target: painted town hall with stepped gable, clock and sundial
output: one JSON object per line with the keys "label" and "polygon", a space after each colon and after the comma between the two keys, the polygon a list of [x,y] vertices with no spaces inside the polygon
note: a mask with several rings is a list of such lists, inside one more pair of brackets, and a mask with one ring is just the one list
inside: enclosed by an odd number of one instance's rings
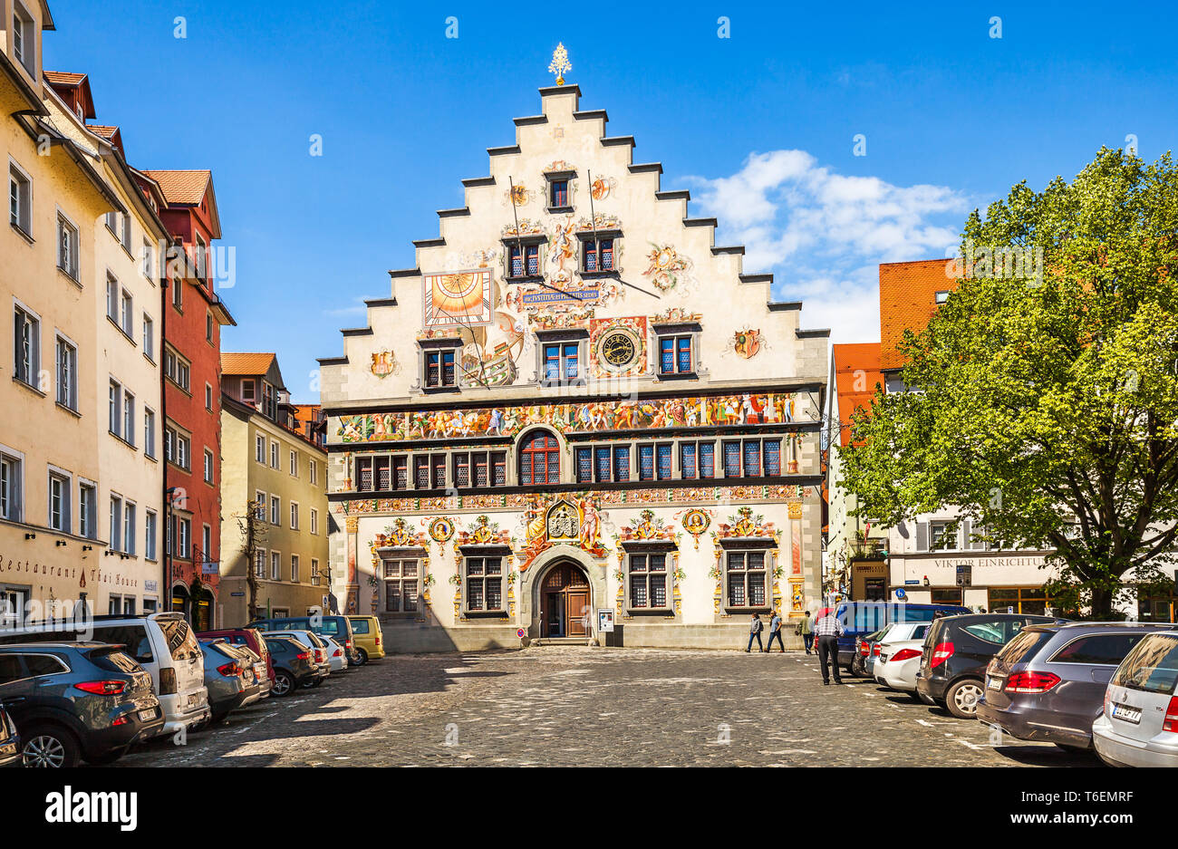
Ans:
{"label": "painted town hall with stepped gable, clock and sundial", "polygon": [[393,651],[794,639],[828,331],[560,82],[320,360],[332,590]]}

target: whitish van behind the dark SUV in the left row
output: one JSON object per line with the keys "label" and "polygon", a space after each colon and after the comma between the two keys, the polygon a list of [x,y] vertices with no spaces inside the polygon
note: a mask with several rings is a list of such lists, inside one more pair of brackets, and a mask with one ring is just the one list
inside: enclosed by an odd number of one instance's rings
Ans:
{"label": "whitish van behind the dark SUV in the left row", "polygon": [[[12,643],[72,643],[82,623],[46,622],[0,631],[0,645]],[[164,707],[160,734],[194,729],[209,722],[204,657],[184,613],[94,616],[87,638],[126,646],[126,654],[151,674]]]}

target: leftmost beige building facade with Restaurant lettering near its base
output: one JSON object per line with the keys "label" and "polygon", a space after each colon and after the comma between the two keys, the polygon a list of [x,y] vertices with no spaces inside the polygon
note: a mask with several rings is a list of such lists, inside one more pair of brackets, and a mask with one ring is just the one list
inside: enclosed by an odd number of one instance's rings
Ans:
{"label": "leftmost beige building facade with Restaurant lettering near its base", "polygon": [[[79,601],[106,612],[114,596],[120,605],[128,596],[140,604],[146,577],[143,561],[108,553],[108,338],[95,320],[107,261],[100,223],[112,211],[135,213],[47,85],[48,7],[0,0],[0,160],[9,198],[0,231],[8,314],[0,334],[0,606],[9,618],[67,613]],[[141,370],[133,379],[145,385]],[[132,477],[146,493],[146,469]]]}

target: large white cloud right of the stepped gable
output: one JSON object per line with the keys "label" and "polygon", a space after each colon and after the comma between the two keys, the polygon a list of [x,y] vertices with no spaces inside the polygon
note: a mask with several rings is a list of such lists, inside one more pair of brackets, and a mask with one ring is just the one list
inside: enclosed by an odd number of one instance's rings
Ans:
{"label": "large white cloud right of the stepped gable", "polygon": [[774,296],[802,300],[802,326],[832,341],[879,339],[879,264],[946,256],[967,203],[947,186],[847,177],[806,151],[753,153],[732,177],[688,178],[720,221],[717,244],[744,245],[744,270],[773,271]]}

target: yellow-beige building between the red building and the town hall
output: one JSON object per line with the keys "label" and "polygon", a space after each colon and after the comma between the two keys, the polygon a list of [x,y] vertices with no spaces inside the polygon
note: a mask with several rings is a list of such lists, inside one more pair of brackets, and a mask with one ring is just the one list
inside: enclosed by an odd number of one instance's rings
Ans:
{"label": "yellow-beige building between the red building and the town hall", "polygon": [[271,353],[221,354],[223,626],[327,608],[327,455]]}

